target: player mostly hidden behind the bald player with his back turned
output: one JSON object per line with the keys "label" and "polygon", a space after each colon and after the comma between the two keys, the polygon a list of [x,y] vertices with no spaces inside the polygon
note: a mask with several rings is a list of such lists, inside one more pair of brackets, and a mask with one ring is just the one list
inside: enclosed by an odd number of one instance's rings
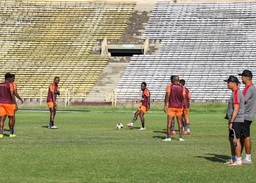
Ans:
{"label": "player mostly hidden behind the bald player with his back turned", "polygon": [[[185,83],[186,81],[185,80],[180,80],[179,84],[181,84],[182,86],[185,86]],[[185,90],[186,90],[186,99],[187,99],[187,112],[185,111],[185,104],[182,103],[182,107],[183,107],[183,114],[182,114],[182,124],[183,124],[183,127],[184,127],[184,134],[185,135],[190,135],[190,121],[189,121],[189,99],[191,99],[191,94],[189,92],[189,89],[187,89],[185,87]]]}

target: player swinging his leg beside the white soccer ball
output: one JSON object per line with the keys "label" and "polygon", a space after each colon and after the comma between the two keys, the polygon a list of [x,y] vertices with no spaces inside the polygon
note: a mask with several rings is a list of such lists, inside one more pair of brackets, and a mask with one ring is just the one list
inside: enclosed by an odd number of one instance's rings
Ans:
{"label": "player swinging his leg beside the white soccer ball", "polygon": [[138,115],[140,115],[141,125],[142,127],[139,130],[145,130],[145,119],[144,114],[150,109],[150,91],[147,89],[147,84],[145,82],[141,83],[141,91],[142,92],[142,100],[136,100],[136,103],[142,103],[138,108],[137,112],[134,113],[134,118],[132,122],[127,124],[126,126],[132,127],[134,122],[138,119]]}

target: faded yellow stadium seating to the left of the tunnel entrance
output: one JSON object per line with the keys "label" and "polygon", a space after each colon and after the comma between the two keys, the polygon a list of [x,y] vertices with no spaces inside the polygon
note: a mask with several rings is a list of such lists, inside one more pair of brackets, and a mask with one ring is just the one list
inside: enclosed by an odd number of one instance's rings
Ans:
{"label": "faded yellow stadium seating to the left of the tunnel entrance", "polygon": [[46,98],[55,76],[62,91],[86,98],[109,60],[90,51],[99,39],[120,38],[135,4],[0,1],[0,75],[16,75],[22,98]]}

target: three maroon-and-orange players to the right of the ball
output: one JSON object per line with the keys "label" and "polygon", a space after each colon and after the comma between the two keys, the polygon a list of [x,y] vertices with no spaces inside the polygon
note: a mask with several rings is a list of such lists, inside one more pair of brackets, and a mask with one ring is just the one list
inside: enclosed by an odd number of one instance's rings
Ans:
{"label": "three maroon-and-orange players to the right of the ball", "polygon": [[[177,75],[171,77],[172,84],[166,87],[166,94],[164,99],[164,112],[167,112],[167,137],[163,141],[171,141],[171,134],[176,135],[174,128],[174,117],[176,115],[179,125],[179,141],[184,141],[182,138],[182,132],[184,129],[185,135],[190,135],[190,121],[189,121],[189,99],[191,94],[189,90],[184,87],[185,80],[179,80]],[[142,103],[137,112],[134,113],[132,122],[127,124],[128,127],[132,127],[134,122],[140,115],[142,127],[139,130],[145,130],[144,114],[150,109],[150,91],[147,89],[147,84],[143,82],[141,84],[142,99],[137,100],[136,103]],[[172,133],[171,133],[172,128]]]}

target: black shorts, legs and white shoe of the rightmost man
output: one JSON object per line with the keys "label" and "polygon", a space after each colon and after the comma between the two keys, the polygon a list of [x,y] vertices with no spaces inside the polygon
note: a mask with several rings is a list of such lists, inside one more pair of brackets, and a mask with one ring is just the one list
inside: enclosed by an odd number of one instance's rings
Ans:
{"label": "black shorts, legs and white shoe of the rightmost man", "polygon": [[252,143],[250,139],[250,125],[252,121],[244,120],[242,127],[241,127],[241,152],[243,152],[243,147],[245,147],[245,158],[243,159],[243,163],[252,164],[251,159],[251,150],[252,150]]}

